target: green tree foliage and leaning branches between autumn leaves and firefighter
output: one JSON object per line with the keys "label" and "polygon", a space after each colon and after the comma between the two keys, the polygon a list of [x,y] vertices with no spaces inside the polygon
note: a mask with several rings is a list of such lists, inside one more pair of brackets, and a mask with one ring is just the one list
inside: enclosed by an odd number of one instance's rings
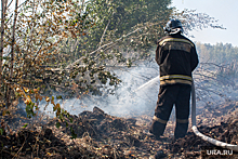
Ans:
{"label": "green tree foliage and leaning branches between autumn leaves and firefighter", "polygon": [[111,90],[120,80],[109,67],[131,67],[133,62],[150,56],[172,12],[169,4],[170,0],[92,1],[89,16],[96,19],[95,25],[87,35],[62,42],[62,55],[67,57],[60,58],[61,68],[55,70],[74,78],[77,96],[83,92],[101,94],[102,83]]}

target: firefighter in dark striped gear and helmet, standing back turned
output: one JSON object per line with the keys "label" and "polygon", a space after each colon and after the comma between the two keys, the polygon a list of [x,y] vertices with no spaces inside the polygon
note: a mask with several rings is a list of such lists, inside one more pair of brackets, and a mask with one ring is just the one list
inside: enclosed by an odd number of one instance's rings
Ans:
{"label": "firefighter in dark striped gear and helmet, standing back turned", "polygon": [[182,35],[183,27],[178,19],[170,19],[164,31],[168,35],[158,41],[156,50],[156,62],[160,68],[160,89],[149,132],[160,138],[175,105],[174,138],[180,138],[187,133],[191,71],[198,65],[198,55],[195,44]]}

